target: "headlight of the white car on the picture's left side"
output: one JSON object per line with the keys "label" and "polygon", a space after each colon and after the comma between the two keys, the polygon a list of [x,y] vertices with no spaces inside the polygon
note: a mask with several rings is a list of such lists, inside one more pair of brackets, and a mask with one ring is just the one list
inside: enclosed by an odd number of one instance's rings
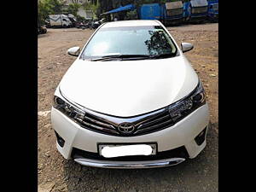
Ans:
{"label": "headlight of the white car on the picture's left side", "polygon": [[82,122],[84,119],[85,112],[81,108],[77,108],[72,104],[65,102],[60,97],[54,97],[54,108],[60,110],[62,113],[66,114],[70,119],[76,122]]}

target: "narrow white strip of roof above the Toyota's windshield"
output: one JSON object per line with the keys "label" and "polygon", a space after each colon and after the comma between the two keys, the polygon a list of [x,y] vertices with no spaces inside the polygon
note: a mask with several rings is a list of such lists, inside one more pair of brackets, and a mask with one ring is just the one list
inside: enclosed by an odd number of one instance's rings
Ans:
{"label": "narrow white strip of roof above the Toyota's windshield", "polygon": [[160,26],[157,20],[118,20],[105,23],[102,28],[118,26]]}

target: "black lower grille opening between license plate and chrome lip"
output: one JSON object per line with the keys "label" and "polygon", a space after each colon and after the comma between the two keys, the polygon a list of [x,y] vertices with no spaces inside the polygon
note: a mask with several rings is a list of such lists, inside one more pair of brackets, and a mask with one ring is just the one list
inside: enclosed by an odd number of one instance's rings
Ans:
{"label": "black lower grille opening between license plate and chrome lip", "polygon": [[90,160],[116,160],[116,161],[141,161],[141,160],[164,160],[169,158],[189,158],[189,154],[184,146],[179,148],[174,148],[168,151],[157,152],[155,155],[134,155],[134,156],[124,156],[124,157],[113,157],[105,158],[98,153],[93,153],[89,151],[84,151],[79,148],[73,148],[71,157],[76,158],[86,158]]}

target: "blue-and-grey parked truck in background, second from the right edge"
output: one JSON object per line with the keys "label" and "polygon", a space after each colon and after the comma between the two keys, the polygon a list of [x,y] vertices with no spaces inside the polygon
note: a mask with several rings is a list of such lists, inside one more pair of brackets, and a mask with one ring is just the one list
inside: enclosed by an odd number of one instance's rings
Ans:
{"label": "blue-and-grey parked truck in background, second from the right edge", "polygon": [[207,19],[207,0],[183,0],[183,16],[186,21]]}

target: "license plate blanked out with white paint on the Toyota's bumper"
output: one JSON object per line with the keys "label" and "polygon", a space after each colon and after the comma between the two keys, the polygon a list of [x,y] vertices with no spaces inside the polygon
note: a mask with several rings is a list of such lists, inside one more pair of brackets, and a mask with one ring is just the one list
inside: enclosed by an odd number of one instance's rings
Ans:
{"label": "license plate blanked out with white paint on the Toyota's bumper", "polygon": [[156,144],[99,144],[99,154],[105,158],[154,155],[156,154]]}

